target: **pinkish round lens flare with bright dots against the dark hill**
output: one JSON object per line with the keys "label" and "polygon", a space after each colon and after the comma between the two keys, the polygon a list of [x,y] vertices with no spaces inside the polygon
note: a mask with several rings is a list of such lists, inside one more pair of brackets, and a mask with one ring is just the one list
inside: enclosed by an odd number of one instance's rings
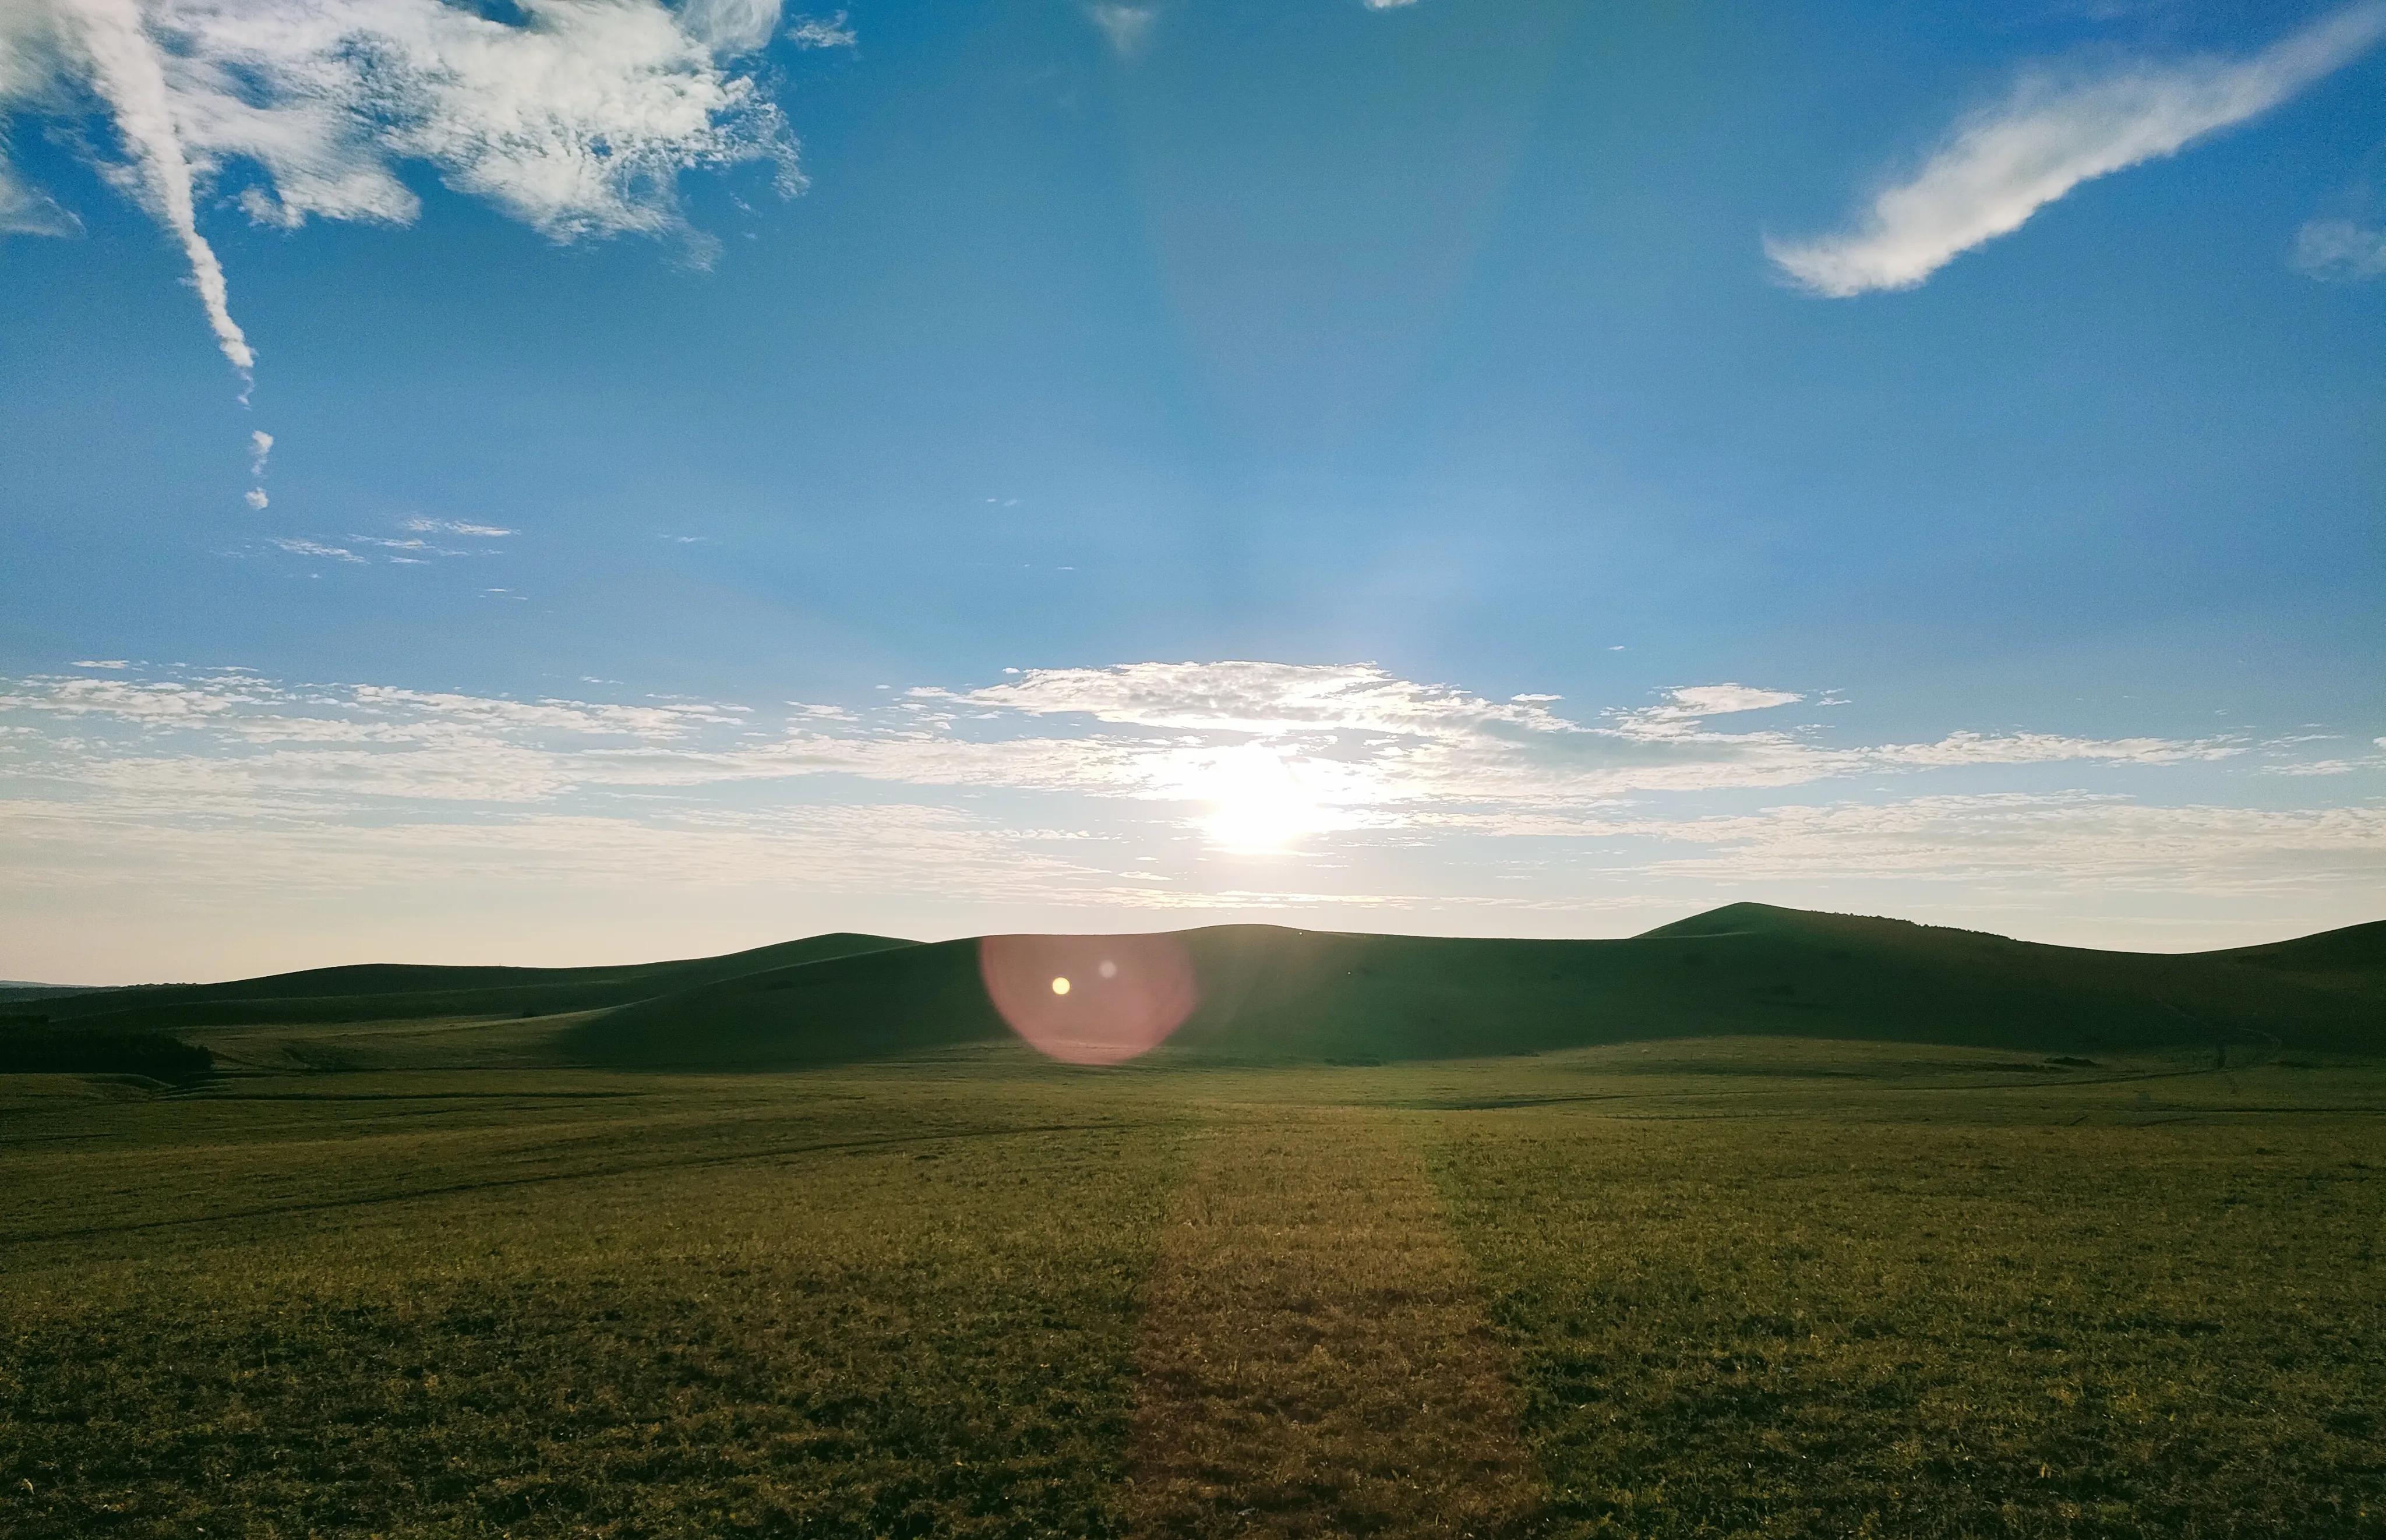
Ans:
{"label": "pinkish round lens flare with bright dots against the dark hill", "polygon": [[1002,1020],[1064,1063],[1148,1054],[1200,1004],[1174,937],[985,937],[978,975]]}

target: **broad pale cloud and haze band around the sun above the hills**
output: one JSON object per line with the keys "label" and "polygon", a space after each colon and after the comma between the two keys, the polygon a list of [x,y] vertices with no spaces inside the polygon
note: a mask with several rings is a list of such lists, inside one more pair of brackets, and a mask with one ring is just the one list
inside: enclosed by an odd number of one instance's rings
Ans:
{"label": "broad pale cloud and haze band around the sun above the hills", "polygon": [[[2386,875],[2374,803],[2159,808],[2109,780],[2100,794],[1928,789],[1947,770],[1978,787],[1995,765],[2159,775],[2233,756],[2231,741],[1821,744],[1696,718],[1644,737],[1613,725],[1627,718],[1584,725],[1372,665],[1024,670],[859,708],[747,710],[122,663],[0,679],[0,896],[802,873],[814,892],[978,903],[1580,915],[1625,887],[1909,880],[2016,906],[2064,884],[2295,889],[2334,894],[2298,913],[2343,913]],[[1668,706],[1782,694],[1682,687]],[[1751,787],[1883,775],[1923,794],[1737,811]],[[1243,853],[1286,846],[1272,865]]]}

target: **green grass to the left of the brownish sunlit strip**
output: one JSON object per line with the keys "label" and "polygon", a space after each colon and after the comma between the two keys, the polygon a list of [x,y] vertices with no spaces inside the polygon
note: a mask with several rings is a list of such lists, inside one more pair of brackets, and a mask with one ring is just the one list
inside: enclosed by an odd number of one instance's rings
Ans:
{"label": "green grass to the left of the brownish sunlit strip", "polygon": [[618,1089],[12,1118],[0,1528],[1105,1533],[1167,1120]]}

